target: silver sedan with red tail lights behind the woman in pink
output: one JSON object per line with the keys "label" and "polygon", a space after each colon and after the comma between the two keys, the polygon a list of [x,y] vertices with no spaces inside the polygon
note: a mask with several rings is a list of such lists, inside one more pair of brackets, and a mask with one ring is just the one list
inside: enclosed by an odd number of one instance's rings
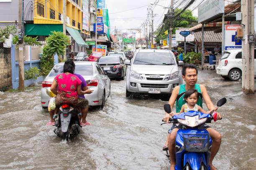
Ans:
{"label": "silver sedan with red tail lights behind the woman in pink", "polygon": [[[86,94],[85,98],[89,101],[89,106],[100,105],[101,108],[105,105],[105,100],[110,96],[110,79],[102,70],[97,62],[74,62],[75,73],[84,77],[87,86],[94,90],[91,94]],[[51,87],[51,84],[56,75],[63,73],[64,62],[60,62],[54,66],[51,72],[45,77],[41,88],[41,105],[45,109],[48,107],[50,97],[46,94],[46,88]]]}

